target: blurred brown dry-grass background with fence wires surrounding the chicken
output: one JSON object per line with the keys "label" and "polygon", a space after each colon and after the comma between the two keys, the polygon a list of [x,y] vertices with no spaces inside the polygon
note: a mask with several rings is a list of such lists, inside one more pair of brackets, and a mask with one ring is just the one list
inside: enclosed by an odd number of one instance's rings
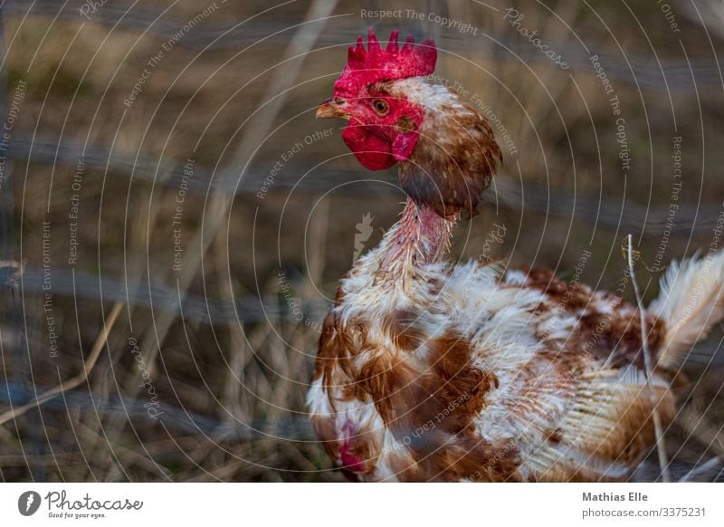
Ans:
{"label": "blurred brown dry-grass background with fence wires surrounding the chicken", "polygon": [[[453,259],[616,290],[632,234],[648,302],[672,259],[721,243],[719,1],[5,0],[0,15],[3,481],[342,481],[304,396],[338,279],[404,194],[314,110],[369,25],[433,37],[432,81],[503,151]],[[678,479],[720,476],[721,338],[678,388]]]}

